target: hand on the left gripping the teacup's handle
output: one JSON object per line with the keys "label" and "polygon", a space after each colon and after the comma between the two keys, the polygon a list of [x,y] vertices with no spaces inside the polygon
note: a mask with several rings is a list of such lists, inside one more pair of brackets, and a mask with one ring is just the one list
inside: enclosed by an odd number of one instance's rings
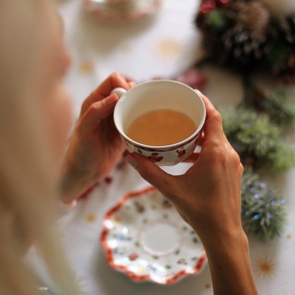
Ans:
{"label": "hand on the left gripping the teacup's handle", "polygon": [[120,73],[113,73],[84,101],[64,160],[63,202],[79,197],[118,164],[125,148],[113,123],[118,96],[110,92],[133,86]]}

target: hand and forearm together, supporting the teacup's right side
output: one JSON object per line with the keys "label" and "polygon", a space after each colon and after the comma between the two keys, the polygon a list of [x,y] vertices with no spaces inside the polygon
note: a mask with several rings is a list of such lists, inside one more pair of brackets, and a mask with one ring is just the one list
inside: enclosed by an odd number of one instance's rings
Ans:
{"label": "hand and forearm together, supporting the teacup's right side", "polygon": [[167,197],[202,240],[214,294],[257,294],[241,222],[243,166],[222,129],[221,115],[202,95],[207,110],[200,154],[184,175],[169,175],[147,158],[126,160]]}

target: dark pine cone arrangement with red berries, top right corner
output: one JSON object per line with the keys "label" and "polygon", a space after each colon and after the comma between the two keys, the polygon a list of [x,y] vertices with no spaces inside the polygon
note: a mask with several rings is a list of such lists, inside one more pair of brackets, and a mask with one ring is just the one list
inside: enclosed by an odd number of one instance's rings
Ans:
{"label": "dark pine cone arrangement with red berries, top right corner", "polygon": [[294,84],[295,12],[278,17],[264,2],[203,0],[195,24],[202,32],[205,60],[244,76],[264,70],[281,83]]}

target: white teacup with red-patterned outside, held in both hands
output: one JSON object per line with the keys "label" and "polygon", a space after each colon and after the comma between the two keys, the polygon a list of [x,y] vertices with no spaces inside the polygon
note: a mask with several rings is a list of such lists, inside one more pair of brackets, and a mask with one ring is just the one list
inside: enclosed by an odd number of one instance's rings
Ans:
{"label": "white teacup with red-patterned outside, held in both hands", "polygon": [[[137,152],[160,166],[176,165],[194,152],[206,118],[205,104],[195,90],[177,81],[156,80],[139,84],[128,91],[115,88],[112,93],[120,97],[115,105],[114,122],[129,152]],[[135,118],[161,109],[177,110],[187,115],[196,125],[195,132],[179,143],[163,146],[138,143],[126,135]]]}

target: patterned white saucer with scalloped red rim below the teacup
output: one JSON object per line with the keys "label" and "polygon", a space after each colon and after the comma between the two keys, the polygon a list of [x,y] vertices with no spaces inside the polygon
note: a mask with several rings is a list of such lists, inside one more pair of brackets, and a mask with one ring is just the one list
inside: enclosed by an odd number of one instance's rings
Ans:
{"label": "patterned white saucer with scalloped red rim below the teacup", "polygon": [[207,263],[195,231],[154,187],[130,192],[105,214],[100,242],[110,266],[133,281],[172,284]]}

